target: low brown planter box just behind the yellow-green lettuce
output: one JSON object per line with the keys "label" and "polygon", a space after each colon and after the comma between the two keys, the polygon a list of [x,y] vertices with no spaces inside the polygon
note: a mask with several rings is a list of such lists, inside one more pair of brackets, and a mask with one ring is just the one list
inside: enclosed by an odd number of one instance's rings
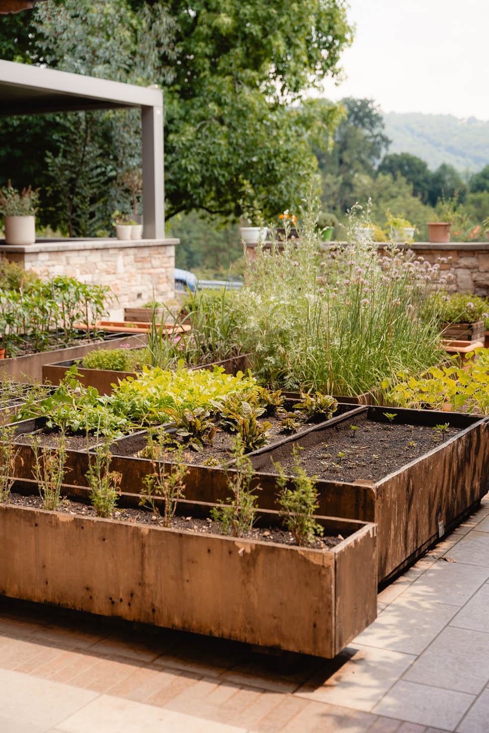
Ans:
{"label": "low brown planter box just behind the yellow-green lettuce", "polygon": [[[75,364],[73,359],[68,361],[60,361],[57,364],[45,364],[43,366],[43,381],[51,382],[51,384],[59,384],[65,377],[67,369]],[[213,369],[214,367],[223,367],[227,374],[236,375],[237,372],[246,372],[248,369],[249,359],[246,354],[232,356],[223,361],[213,361],[212,364],[199,364],[197,367],[188,367],[195,371],[196,369]],[[85,369],[78,367],[78,373],[81,377],[78,380],[85,387],[95,387],[99,394],[112,394],[112,388],[118,381],[122,381],[126,377],[137,379],[138,372],[116,372],[112,369]]]}

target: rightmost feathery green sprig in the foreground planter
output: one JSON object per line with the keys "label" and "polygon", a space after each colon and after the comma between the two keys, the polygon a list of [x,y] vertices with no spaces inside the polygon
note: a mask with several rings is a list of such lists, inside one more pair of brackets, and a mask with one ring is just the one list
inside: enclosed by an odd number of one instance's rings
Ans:
{"label": "rightmost feathery green sprig in the foreground planter", "polygon": [[293,449],[294,465],[292,469],[294,488],[290,489],[290,479],[279,462],[273,461],[278,474],[276,482],[280,489],[277,501],[284,526],[293,534],[295,542],[301,547],[312,545],[315,537],[323,534],[323,527],[314,518],[319,504],[319,496],[315,489],[317,476],[308,476],[301,465],[296,446]]}

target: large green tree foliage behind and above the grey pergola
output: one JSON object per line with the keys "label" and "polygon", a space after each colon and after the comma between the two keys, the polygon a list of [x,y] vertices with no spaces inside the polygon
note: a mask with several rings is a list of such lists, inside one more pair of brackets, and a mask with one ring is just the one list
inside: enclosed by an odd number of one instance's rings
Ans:
{"label": "large green tree foliage behind and above the grey pergola", "polygon": [[[326,139],[339,108],[303,103],[301,95],[339,73],[352,39],[344,0],[199,0],[191,7],[179,0],[48,0],[6,18],[4,58],[161,86],[167,217],[203,210],[238,218],[250,189],[273,216],[298,205],[296,180],[317,172],[310,136]],[[95,233],[128,198],[117,182],[125,167],[139,164],[137,116],[19,119],[1,123],[0,150],[21,163],[15,149],[22,125],[43,146],[15,176],[2,154],[2,171],[19,185],[42,186],[45,223]],[[60,185],[67,196],[55,206]]]}

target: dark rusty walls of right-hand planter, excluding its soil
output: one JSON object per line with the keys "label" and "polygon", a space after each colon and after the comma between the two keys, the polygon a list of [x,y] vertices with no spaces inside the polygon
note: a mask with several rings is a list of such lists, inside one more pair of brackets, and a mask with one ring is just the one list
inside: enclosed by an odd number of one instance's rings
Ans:
{"label": "dark rusty walls of right-hand planter, excluding its soil", "polygon": [[[384,408],[364,407],[367,419],[386,421]],[[449,422],[460,432],[423,456],[376,482],[317,482],[322,515],[350,517],[378,524],[378,579],[386,581],[411,564],[438,541],[443,531],[455,527],[477,506],[489,490],[489,424],[462,413],[396,408],[397,424],[434,427]],[[339,421],[350,419],[350,415]],[[273,483],[271,459],[281,460],[299,446],[328,443],[331,427],[315,427],[306,435],[287,438],[251,457],[257,481],[268,488]],[[283,459],[282,459],[283,460]],[[261,507],[270,506],[268,491],[259,494]]]}

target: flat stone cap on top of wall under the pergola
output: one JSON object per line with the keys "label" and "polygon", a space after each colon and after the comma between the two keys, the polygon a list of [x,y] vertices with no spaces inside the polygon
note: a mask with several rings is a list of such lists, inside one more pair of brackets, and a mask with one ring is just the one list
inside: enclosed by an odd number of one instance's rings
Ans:
{"label": "flat stone cap on top of wall under the pergola", "polygon": [[40,239],[34,244],[5,244],[5,240],[0,239],[0,252],[37,254],[39,252],[76,252],[89,249],[127,249],[129,247],[144,248],[176,244],[180,244],[180,240],[175,239],[174,237],[128,240],[120,240],[116,239],[116,237],[108,237],[106,239],[103,239],[102,237],[93,237],[92,239]]}

